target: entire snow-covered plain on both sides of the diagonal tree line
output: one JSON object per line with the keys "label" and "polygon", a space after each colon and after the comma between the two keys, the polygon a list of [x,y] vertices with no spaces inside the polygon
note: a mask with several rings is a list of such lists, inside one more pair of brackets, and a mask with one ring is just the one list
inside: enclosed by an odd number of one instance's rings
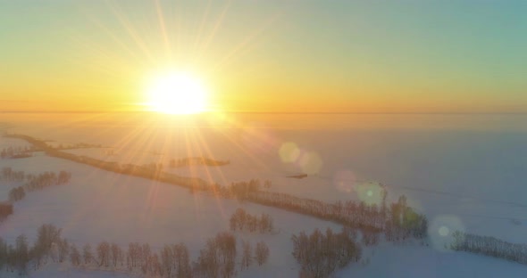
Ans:
{"label": "entire snow-covered plain on both sides of the diagonal tree line", "polygon": [[[366,251],[370,254],[366,266],[348,266],[337,277],[523,277],[526,266],[445,252],[448,236],[441,236],[439,229],[527,241],[524,128],[508,124],[512,122],[508,119],[456,119],[461,124],[455,127],[436,118],[413,120],[413,126],[403,120],[394,124],[375,119],[371,126],[356,121],[353,127],[339,128],[331,121],[331,128],[305,129],[287,128],[290,124],[283,123],[267,125],[264,119],[235,128],[210,123],[202,128],[171,127],[165,121],[88,124],[85,119],[36,127],[33,119],[19,123],[13,131],[54,143],[100,143],[110,148],[69,152],[120,163],[163,163],[166,171],[219,184],[271,180],[271,191],[316,200],[361,199],[364,196],[356,189],[363,181],[379,181],[388,185],[389,198],[406,194],[409,203],[428,216],[431,246],[383,243]],[[230,165],[166,167],[170,159],[195,156],[229,159]],[[291,234],[315,227],[339,230],[338,225],[311,217],[191,194],[176,186],[67,160],[44,156],[0,160],[0,168],[5,166],[35,174],[62,169],[72,173],[71,184],[31,192],[15,204],[13,217],[0,225],[0,236],[8,240],[19,233],[32,239],[38,225],[52,223],[79,244],[147,241],[161,247],[184,241],[195,258],[207,238],[228,230],[230,214],[242,207],[251,213],[271,214],[280,233],[240,236],[266,241],[272,255],[267,266],[253,266],[239,276],[294,277],[298,266],[290,255]],[[286,177],[304,172],[311,175]],[[35,277],[67,277],[64,273],[51,267]],[[95,277],[105,277],[102,275]]]}

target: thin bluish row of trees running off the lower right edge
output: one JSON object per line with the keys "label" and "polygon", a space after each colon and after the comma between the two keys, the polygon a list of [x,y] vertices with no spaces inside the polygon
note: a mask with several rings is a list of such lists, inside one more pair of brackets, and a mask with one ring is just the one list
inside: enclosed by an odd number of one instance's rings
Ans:
{"label": "thin bluish row of trees running off the lower right edge", "polygon": [[527,244],[511,243],[491,236],[456,231],[450,249],[471,252],[527,265]]}

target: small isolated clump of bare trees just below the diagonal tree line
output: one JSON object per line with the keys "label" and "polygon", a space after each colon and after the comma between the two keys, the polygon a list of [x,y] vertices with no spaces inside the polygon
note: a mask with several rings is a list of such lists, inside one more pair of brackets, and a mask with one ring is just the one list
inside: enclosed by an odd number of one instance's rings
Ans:
{"label": "small isolated clump of bare trees just below the diagonal tree line", "polygon": [[255,233],[271,233],[273,229],[272,217],[263,213],[260,217],[247,213],[243,208],[237,208],[230,216],[230,231],[247,231]]}

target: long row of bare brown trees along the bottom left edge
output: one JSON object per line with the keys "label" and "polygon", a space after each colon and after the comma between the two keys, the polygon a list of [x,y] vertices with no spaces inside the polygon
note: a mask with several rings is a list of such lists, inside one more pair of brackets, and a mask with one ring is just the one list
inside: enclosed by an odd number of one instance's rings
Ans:
{"label": "long row of bare brown trees along the bottom left edge", "polygon": [[[146,277],[234,277],[238,264],[243,270],[255,260],[263,265],[269,258],[269,248],[260,241],[253,252],[249,242],[242,243],[242,254],[237,261],[237,241],[231,233],[218,233],[206,241],[196,261],[191,262],[188,248],[184,243],[165,244],[155,251],[148,243],[132,242],[128,249],[115,243],[102,241],[95,248],[90,244],[80,249],[61,235],[61,229],[54,225],[38,228],[37,240],[29,246],[25,235],[16,238],[14,245],[0,238],[0,272],[26,274],[37,270],[49,261],[71,266],[88,266],[92,269],[121,270]],[[1,275],[0,275],[1,276]]]}

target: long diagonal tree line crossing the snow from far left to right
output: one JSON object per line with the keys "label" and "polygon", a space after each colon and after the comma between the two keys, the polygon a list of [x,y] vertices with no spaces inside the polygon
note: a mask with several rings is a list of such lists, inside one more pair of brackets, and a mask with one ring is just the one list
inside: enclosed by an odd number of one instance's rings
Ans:
{"label": "long diagonal tree line crossing the snow from far left to right", "polygon": [[[408,238],[424,238],[428,229],[427,218],[414,211],[406,203],[406,197],[401,196],[395,203],[388,204],[386,201],[386,190],[383,187],[382,202],[380,205],[369,205],[362,201],[348,200],[343,203],[322,202],[320,200],[309,200],[298,198],[286,193],[268,192],[260,190],[261,182],[252,179],[247,182],[232,183],[228,186],[221,184],[210,184],[199,178],[176,176],[163,172],[159,168],[144,168],[135,165],[120,165],[116,162],[107,162],[88,157],[46,149],[46,143],[38,141],[27,135],[10,135],[27,140],[37,147],[45,148],[48,155],[63,159],[71,159],[85,163],[97,168],[103,168],[116,173],[131,176],[141,176],[154,179],[168,184],[177,184],[187,187],[192,192],[210,192],[224,198],[238,198],[255,203],[282,208],[324,220],[334,221],[341,225],[348,225],[360,229],[366,234],[365,239],[374,244],[379,233],[385,233],[389,241],[402,241]],[[265,181],[264,187],[270,187],[271,183]]]}

